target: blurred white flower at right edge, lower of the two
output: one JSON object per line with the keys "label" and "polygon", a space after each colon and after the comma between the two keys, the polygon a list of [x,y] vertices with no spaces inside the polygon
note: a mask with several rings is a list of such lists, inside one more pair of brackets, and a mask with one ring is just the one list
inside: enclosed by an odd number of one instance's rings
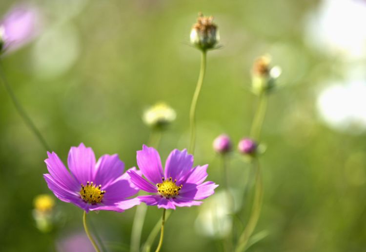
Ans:
{"label": "blurred white flower at right edge, lower of the two", "polygon": [[331,128],[350,134],[366,130],[366,81],[331,83],[317,100],[321,118]]}

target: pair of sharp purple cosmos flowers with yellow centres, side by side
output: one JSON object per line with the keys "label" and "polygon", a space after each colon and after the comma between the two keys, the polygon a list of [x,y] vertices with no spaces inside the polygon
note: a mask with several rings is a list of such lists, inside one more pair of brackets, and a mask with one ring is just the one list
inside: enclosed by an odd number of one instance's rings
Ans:
{"label": "pair of sharp purple cosmos flowers with yellow centres, side by side", "polygon": [[[47,153],[49,174],[44,174],[50,190],[61,201],[79,206],[86,212],[110,210],[122,212],[144,202],[149,206],[175,209],[176,206],[198,206],[214,194],[218,186],[204,182],[208,165],[193,168],[193,156],[186,150],[173,150],[163,171],[159,153],[142,146],[137,164],[125,173],[118,155],[103,155],[98,161],[93,150],[81,143],[71,147],[67,159],[70,172],[56,153]],[[143,176],[145,178],[143,178]],[[151,195],[134,196],[139,190]]]}

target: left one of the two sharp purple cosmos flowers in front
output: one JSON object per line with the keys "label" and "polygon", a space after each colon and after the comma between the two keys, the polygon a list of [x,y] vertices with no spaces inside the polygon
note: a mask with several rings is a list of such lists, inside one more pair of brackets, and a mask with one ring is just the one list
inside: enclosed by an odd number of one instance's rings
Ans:
{"label": "left one of the two sharp purple cosmos flowers in front", "polygon": [[[138,188],[130,182],[130,176],[123,173],[124,163],[117,154],[103,155],[98,162],[94,152],[83,143],[71,147],[67,164],[71,174],[56,153],[47,152],[49,174],[43,174],[48,187],[61,201],[72,203],[86,212],[89,210],[110,210],[122,212],[139,205],[135,195]],[[131,168],[129,171],[136,171]]]}

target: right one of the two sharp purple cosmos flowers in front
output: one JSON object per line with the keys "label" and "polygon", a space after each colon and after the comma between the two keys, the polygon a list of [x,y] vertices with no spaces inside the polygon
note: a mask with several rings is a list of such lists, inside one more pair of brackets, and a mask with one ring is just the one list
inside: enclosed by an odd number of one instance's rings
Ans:
{"label": "right one of the two sharp purple cosmos flowers in front", "polygon": [[127,173],[131,181],[140,189],[154,193],[154,195],[140,196],[140,200],[146,205],[165,209],[175,209],[176,206],[198,206],[201,201],[214,194],[217,184],[203,181],[208,174],[208,165],[193,166],[193,156],[187,151],[173,150],[165,162],[163,173],[162,163],[159,153],[152,147],[142,146],[142,150],[137,152],[137,164],[142,178],[135,171]]}

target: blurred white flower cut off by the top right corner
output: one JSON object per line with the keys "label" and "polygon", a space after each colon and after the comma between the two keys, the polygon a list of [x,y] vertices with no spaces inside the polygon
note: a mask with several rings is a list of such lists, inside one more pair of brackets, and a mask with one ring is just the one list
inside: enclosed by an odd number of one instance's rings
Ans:
{"label": "blurred white flower cut off by the top right corner", "polygon": [[366,2],[323,0],[307,23],[306,40],[321,51],[349,59],[366,57]]}

